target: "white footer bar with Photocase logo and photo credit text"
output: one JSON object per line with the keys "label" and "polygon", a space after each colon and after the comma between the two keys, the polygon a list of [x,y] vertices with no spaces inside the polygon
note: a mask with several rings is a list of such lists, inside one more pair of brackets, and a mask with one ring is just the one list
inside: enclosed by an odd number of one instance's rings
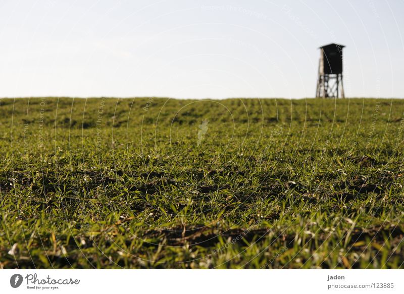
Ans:
{"label": "white footer bar with Photocase logo and photo credit text", "polygon": [[404,293],[403,270],[0,270],[2,293]]}

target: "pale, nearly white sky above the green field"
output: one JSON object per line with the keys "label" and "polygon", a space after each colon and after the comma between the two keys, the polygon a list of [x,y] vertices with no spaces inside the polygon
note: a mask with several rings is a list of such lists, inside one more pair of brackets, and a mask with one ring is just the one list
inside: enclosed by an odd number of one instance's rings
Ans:
{"label": "pale, nearly white sky above the green field", "polygon": [[404,97],[403,0],[0,0],[0,97]]}

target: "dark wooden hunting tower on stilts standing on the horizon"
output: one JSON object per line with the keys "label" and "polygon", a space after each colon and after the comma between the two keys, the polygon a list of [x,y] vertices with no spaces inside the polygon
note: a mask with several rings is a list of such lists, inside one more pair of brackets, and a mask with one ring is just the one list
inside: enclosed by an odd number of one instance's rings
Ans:
{"label": "dark wooden hunting tower on stilts standing on the horizon", "polygon": [[342,86],[342,48],[339,44],[321,46],[316,97],[345,98]]}

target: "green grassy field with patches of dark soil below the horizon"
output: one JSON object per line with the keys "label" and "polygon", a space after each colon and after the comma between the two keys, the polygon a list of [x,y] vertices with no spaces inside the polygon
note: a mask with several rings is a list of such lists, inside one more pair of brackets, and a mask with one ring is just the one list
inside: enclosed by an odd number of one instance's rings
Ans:
{"label": "green grassy field with patches of dark soil below the horizon", "polygon": [[404,100],[0,112],[2,268],[404,268]]}

